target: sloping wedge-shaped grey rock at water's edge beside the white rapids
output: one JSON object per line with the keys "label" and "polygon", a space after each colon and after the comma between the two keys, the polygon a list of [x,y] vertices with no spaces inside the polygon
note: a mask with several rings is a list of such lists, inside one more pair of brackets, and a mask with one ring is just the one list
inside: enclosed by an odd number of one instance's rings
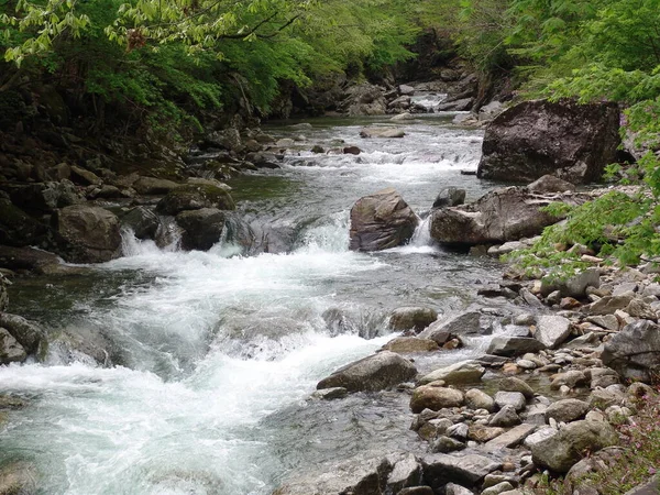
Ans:
{"label": "sloping wedge-shaped grey rock at water's edge beside the white rapids", "polygon": [[[317,388],[344,387],[349,392],[383,391],[407,382],[417,375],[417,370],[408,360],[389,351],[350,363],[327,378]],[[419,409],[419,411],[421,411]],[[417,413],[419,413],[417,411]]]}

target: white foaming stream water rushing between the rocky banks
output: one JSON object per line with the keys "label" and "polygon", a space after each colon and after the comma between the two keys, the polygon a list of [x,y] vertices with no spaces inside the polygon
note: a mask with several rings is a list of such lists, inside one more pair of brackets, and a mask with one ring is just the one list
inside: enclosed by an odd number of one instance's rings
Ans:
{"label": "white foaming stream water rushing between the rocky banks", "polygon": [[[476,167],[481,132],[449,121],[407,121],[402,140],[361,140],[361,125],[377,119],[268,129],[307,141],[282,169],[232,186],[240,215],[286,252],[239,256],[227,243],[180,252],[127,235],[122,258],[18,280],[13,311],[53,334],[101,336],[122,365],[94,366],[54,345],[45,365],[0,369],[0,393],[30,403],[0,425],[0,463],[33,462],[44,494],[268,494],[292,471],[420,449],[405,395],[309,396],[392,338],[392,309],[462,310],[477,284],[498,276],[492,261],[432,246],[426,223],[408,246],[348,251],[349,210],[361,196],[395,187],[422,213],[444,186],[465,188],[468,199],[485,190],[460,174]],[[308,151],[340,140],[363,153]]]}

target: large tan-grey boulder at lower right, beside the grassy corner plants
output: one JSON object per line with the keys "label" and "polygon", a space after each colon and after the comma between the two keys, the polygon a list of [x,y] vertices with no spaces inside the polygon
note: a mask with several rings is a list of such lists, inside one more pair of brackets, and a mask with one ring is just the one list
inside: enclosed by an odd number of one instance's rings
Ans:
{"label": "large tan-grey boulder at lower right, beside the grassy corner plants", "polygon": [[574,421],[559,433],[531,447],[534,463],[558,473],[566,473],[584,452],[596,452],[616,446],[618,436],[612,426],[600,421]]}

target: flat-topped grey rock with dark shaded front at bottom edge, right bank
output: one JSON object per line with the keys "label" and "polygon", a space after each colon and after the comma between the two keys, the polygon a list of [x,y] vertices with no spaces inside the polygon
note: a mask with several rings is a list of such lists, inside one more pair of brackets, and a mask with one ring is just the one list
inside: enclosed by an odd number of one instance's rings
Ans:
{"label": "flat-topped grey rock with dark shaded front at bottom edge, right bank", "polygon": [[430,454],[421,459],[425,482],[436,493],[448,483],[476,485],[484,476],[497,470],[501,464],[479,454],[450,455]]}

